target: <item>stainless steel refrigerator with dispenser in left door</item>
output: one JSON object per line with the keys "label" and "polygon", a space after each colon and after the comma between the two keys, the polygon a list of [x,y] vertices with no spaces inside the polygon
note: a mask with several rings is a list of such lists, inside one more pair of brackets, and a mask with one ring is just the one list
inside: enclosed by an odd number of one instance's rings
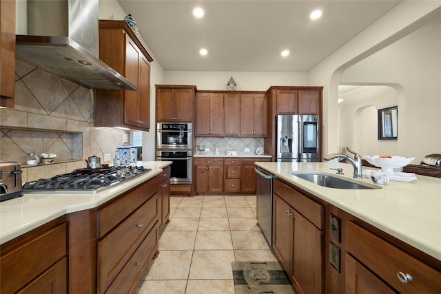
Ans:
{"label": "stainless steel refrigerator with dispenser in left door", "polygon": [[276,158],[286,161],[320,161],[320,118],[316,115],[278,115]]}

